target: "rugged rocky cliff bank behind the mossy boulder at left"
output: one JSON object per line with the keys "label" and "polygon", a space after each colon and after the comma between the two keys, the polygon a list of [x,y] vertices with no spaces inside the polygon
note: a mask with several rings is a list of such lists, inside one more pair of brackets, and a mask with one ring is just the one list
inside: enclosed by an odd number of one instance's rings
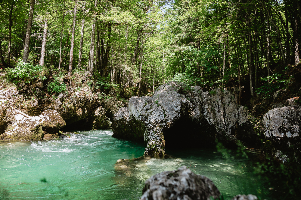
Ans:
{"label": "rugged rocky cliff bank behind the mossy boulder at left", "polygon": [[[30,116],[41,115],[49,109],[54,110],[64,121],[62,124],[67,125],[67,129],[93,130],[109,129],[112,124],[110,118],[112,119],[113,114],[123,105],[116,98],[99,100],[98,94],[92,93],[89,88],[85,87],[73,88],[67,93],[59,94],[56,98],[38,98],[32,92],[33,89],[39,89],[38,86],[31,88],[31,92],[26,92],[28,88],[26,89],[25,86],[18,90],[16,87],[4,88],[0,85],[0,134],[7,132],[8,128],[11,129],[12,125],[16,123],[15,116],[17,113],[14,109]],[[9,125],[11,126],[8,127]],[[48,130],[43,129],[43,131],[47,134],[53,134],[48,133]],[[33,135],[37,134],[33,133]],[[26,140],[43,138],[42,132],[38,135],[29,136]],[[11,134],[2,135],[1,138],[12,139],[12,136]],[[23,140],[24,136],[14,136],[13,138]]]}

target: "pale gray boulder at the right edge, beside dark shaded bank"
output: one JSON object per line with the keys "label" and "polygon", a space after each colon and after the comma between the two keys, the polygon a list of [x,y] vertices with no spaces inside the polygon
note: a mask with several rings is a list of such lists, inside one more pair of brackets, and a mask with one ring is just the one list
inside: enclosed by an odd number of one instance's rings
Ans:
{"label": "pale gray boulder at the right edge, beside dark shaded bank", "polygon": [[293,153],[299,157],[301,147],[301,106],[284,106],[268,111],[263,116],[263,124],[266,128],[265,137],[271,141],[275,148],[272,155],[285,163],[287,155]]}

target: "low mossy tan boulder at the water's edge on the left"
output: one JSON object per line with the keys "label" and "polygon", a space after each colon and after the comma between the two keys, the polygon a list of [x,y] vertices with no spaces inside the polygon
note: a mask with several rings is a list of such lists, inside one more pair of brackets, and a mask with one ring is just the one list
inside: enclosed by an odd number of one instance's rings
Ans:
{"label": "low mossy tan boulder at the water's edge on the left", "polygon": [[[16,121],[9,124],[0,139],[3,140],[42,140],[44,134],[57,135],[59,129],[66,125],[60,114],[54,110],[46,110],[35,117],[24,117],[17,114]],[[12,121],[13,122],[13,121]]]}

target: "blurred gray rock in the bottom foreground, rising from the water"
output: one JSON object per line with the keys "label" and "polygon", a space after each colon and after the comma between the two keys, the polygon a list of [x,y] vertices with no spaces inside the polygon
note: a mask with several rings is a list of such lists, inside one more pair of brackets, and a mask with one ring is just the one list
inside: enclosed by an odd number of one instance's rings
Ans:
{"label": "blurred gray rock in the bottom foreground, rising from the water", "polygon": [[220,192],[213,182],[191,172],[186,166],[156,174],[145,181],[141,200],[218,199]]}

